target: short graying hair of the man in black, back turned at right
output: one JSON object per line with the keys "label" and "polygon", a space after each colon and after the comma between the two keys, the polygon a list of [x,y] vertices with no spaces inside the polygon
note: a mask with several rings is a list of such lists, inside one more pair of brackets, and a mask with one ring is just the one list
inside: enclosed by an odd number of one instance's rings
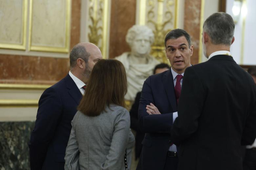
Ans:
{"label": "short graying hair of the man in black, back turned at right", "polygon": [[231,45],[234,30],[235,23],[232,17],[224,12],[212,14],[203,23],[203,31],[210,36],[211,42],[215,45]]}

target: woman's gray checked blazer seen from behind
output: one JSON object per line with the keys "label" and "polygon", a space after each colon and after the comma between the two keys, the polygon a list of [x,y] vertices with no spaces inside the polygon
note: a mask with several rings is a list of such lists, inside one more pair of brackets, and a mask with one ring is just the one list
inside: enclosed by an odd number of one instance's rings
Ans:
{"label": "woman's gray checked blazer seen from behind", "polygon": [[129,112],[117,105],[105,110],[96,117],[76,112],[66,148],[65,170],[125,170],[125,149],[128,169],[131,168],[135,139]]}

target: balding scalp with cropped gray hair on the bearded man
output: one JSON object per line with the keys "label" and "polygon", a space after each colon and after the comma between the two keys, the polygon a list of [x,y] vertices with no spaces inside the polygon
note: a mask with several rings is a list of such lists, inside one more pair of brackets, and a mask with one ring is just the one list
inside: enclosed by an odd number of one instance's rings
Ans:
{"label": "balding scalp with cropped gray hair on the bearded man", "polygon": [[101,52],[96,45],[91,42],[80,42],[76,44],[70,52],[70,67],[74,68],[79,58],[87,63],[91,55],[101,56]]}

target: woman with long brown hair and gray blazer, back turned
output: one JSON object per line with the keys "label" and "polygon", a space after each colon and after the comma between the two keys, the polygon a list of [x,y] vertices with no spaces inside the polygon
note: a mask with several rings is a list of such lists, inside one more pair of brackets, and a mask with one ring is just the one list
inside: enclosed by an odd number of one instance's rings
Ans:
{"label": "woman with long brown hair and gray blazer, back turned", "polygon": [[66,170],[130,169],[134,136],[129,112],[124,108],[126,91],[123,64],[113,59],[99,60],[71,122]]}

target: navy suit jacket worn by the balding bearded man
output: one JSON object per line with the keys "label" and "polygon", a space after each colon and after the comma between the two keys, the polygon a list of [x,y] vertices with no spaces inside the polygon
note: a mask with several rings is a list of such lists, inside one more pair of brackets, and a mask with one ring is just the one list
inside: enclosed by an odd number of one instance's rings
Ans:
{"label": "navy suit jacket worn by the balding bearded man", "polygon": [[69,74],[41,95],[29,142],[32,170],[64,169],[71,121],[81,97]]}

